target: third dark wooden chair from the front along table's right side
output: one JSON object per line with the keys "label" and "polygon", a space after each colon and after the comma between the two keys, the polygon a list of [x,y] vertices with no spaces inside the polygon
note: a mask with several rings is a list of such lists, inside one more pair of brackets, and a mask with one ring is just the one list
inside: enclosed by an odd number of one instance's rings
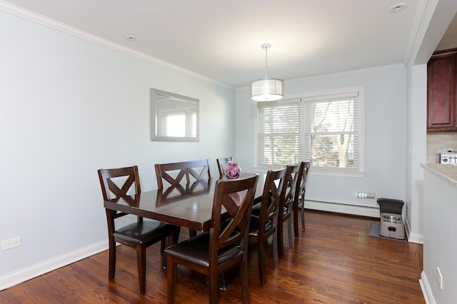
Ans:
{"label": "third dark wooden chair from the front along table's right side", "polygon": [[287,235],[288,235],[288,247],[292,247],[292,208],[293,198],[295,195],[296,183],[298,181],[298,169],[300,164],[286,166],[286,173],[284,174],[283,182],[283,198],[281,198],[281,204],[279,210],[282,214],[278,216],[278,252],[282,258],[284,256],[284,243],[283,243],[283,223],[287,221]]}

